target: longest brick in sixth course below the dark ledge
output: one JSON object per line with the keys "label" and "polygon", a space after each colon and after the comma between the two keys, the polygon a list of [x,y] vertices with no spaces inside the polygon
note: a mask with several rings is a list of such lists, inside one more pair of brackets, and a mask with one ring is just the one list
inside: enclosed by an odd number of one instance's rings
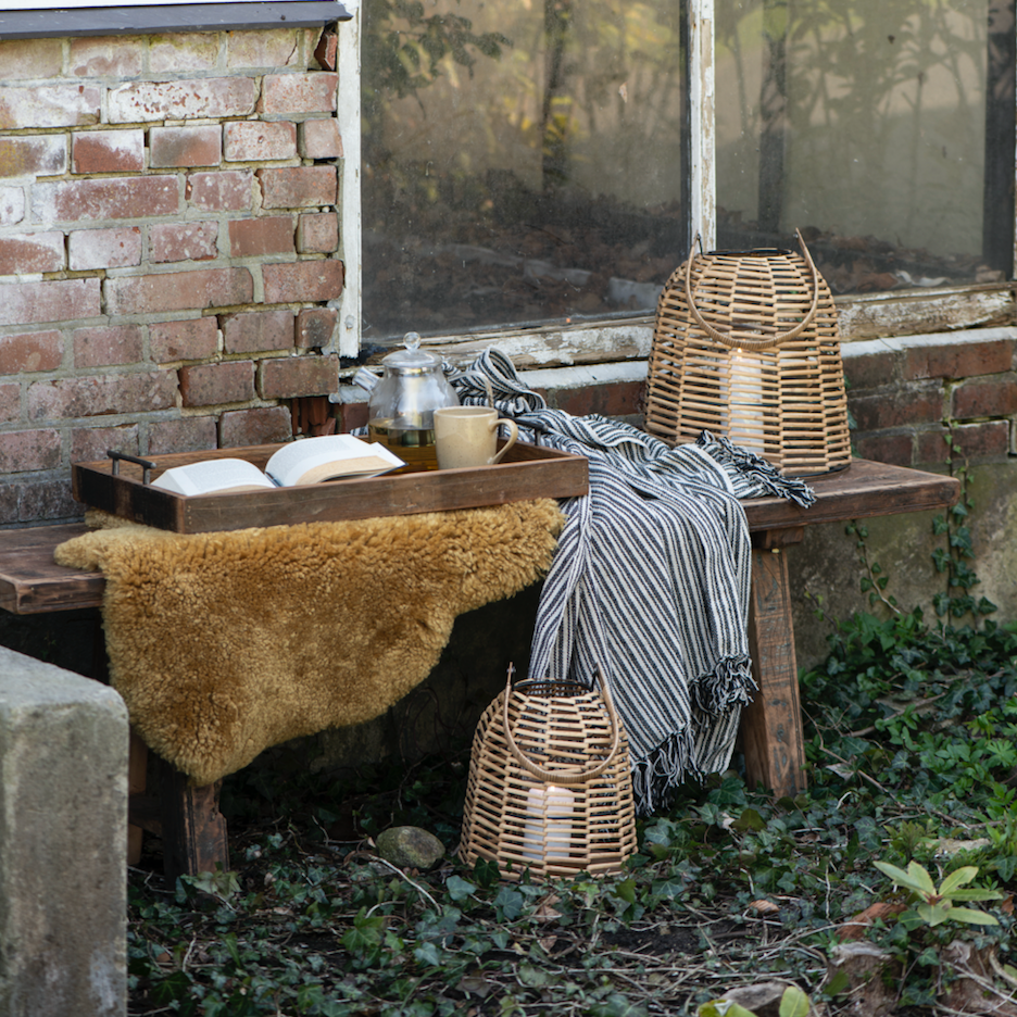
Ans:
{"label": "longest brick in sixth course below the dark ledge", "polygon": [[247,268],[204,268],[121,276],[103,284],[106,314],[199,311],[250,303],[254,282]]}

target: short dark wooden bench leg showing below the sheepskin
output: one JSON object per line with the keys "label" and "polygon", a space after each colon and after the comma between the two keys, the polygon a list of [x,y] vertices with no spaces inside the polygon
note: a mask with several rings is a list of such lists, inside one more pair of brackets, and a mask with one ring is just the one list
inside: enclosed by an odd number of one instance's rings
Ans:
{"label": "short dark wooden bench leg showing below the sheepskin", "polygon": [[229,868],[226,818],[218,811],[222,781],[191,787],[188,777],[162,761],[159,800],[162,811],[163,859],[166,883],[177,876]]}

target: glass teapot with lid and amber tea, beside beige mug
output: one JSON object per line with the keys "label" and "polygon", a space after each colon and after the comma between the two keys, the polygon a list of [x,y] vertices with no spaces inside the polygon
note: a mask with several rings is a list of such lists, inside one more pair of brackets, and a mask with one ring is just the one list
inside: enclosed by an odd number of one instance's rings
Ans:
{"label": "glass teapot with lid and amber tea, beside beige mug", "polygon": [[353,382],[369,392],[367,440],[380,441],[406,463],[406,472],[437,469],[435,411],[457,406],[459,395],[445,380],[440,357],[419,349],[417,332],[403,337],[404,350],[381,361],[379,379],[366,367],[353,375]]}

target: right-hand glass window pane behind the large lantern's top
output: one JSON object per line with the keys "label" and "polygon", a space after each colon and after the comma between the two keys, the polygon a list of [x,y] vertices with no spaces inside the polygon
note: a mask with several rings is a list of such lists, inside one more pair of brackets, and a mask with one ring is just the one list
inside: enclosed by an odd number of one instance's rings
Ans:
{"label": "right-hand glass window pane behind the large lantern's top", "polygon": [[1012,271],[1013,0],[717,4],[721,247],[793,243],[834,292]]}

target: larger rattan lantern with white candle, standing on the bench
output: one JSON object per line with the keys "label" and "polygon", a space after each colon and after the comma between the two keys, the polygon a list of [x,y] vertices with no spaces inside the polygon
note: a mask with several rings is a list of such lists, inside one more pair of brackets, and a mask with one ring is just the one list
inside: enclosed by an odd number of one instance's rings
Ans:
{"label": "larger rattan lantern with white candle, standing on the bench", "polygon": [[804,256],[712,251],[671,274],[650,354],[651,435],[678,444],[708,430],[788,476],[850,465],[837,310],[799,242]]}

